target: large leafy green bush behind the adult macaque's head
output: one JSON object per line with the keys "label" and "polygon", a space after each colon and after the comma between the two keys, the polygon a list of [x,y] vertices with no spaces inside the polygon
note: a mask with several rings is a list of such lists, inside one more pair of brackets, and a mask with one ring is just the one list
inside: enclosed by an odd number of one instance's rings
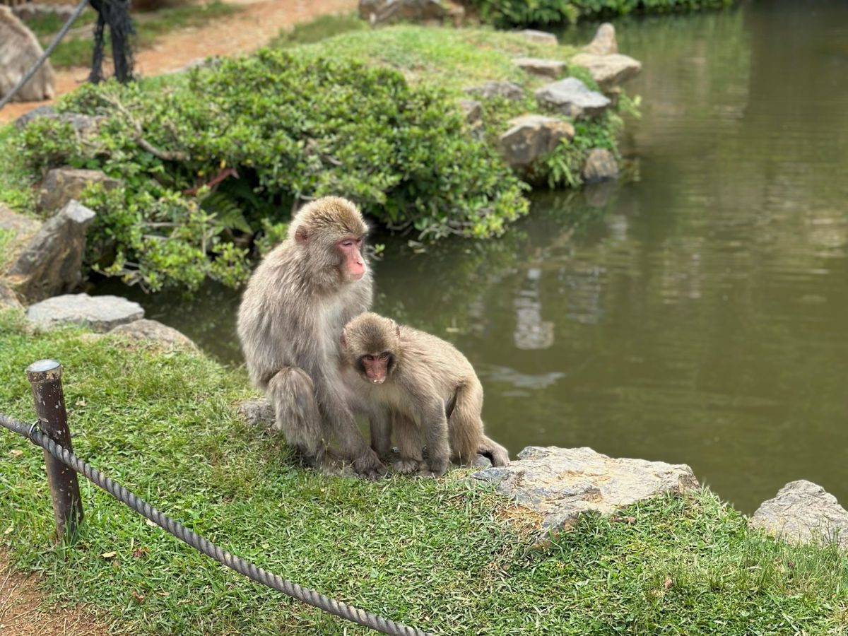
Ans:
{"label": "large leafy green bush behind the adult macaque's head", "polygon": [[123,179],[86,195],[87,263],[150,290],[243,281],[254,233],[325,194],[431,239],[494,236],[527,211],[526,186],[444,91],[396,70],[265,50],[145,86],[81,86],[61,108],[102,115],[98,133],[38,120],[23,143],[38,170]]}

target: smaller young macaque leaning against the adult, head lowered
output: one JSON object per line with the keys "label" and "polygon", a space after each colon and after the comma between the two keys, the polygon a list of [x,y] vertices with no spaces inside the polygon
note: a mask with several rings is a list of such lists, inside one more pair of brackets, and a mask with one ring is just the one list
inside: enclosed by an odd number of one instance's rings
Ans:
{"label": "smaller young macaque leaning against the adult, head lowered", "polygon": [[[471,363],[450,343],[377,314],[361,314],[341,338],[349,391],[360,408],[391,425],[400,451],[395,471],[443,475],[451,460],[470,464],[483,439],[483,386]],[[371,434],[375,434],[372,427]],[[421,447],[427,444],[427,462]]]}

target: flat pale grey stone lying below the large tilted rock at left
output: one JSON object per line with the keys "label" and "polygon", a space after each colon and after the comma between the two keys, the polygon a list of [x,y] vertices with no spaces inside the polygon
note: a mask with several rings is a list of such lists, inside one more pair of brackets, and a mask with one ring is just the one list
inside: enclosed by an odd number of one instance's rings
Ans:
{"label": "flat pale grey stone lying below the large tilted rock at left", "polygon": [[26,320],[42,329],[75,324],[87,325],[95,332],[108,332],[143,317],[140,304],[118,296],[89,296],[87,293],[54,296],[26,310]]}

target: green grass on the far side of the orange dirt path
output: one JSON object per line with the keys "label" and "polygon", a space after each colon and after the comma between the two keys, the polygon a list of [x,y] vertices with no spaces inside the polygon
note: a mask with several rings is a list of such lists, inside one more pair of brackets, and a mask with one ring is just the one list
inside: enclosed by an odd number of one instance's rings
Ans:
{"label": "green grass on the far side of the orange dirt path", "polygon": [[[137,31],[137,46],[150,47],[156,42],[156,39],[164,36],[170,31],[179,31],[189,27],[198,27],[208,23],[211,20],[225,18],[232,14],[237,14],[243,11],[243,6],[236,4],[223,3],[220,0],[212,0],[209,3],[203,4],[187,4],[176,7],[160,8],[145,14],[132,14],[133,22]],[[97,14],[93,11],[86,11],[81,15],[74,28],[93,24],[97,20]],[[47,46],[53,40],[53,36],[59,28],[61,22],[53,16],[42,17],[38,20],[32,20],[27,23],[42,42],[42,46]],[[92,31],[93,32],[93,26]],[[109,39],[109,29],[106,29],[104,43],[104,51],[109,55],[111,44]],[[59,43],[50,57],[50,62],[53,68],[64,69],[72,66],[90,66],[92,64],[93,40],[91,35],[86,36],[66,36]]]}

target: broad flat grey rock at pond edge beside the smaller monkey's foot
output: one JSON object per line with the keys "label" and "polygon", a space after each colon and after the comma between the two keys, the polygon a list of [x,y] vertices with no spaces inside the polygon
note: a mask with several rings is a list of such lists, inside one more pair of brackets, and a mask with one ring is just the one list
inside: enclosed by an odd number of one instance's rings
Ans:
{"label": "broad flat grey rock at pond edge beside the smaller monkey's foot", "polygon": [[510,466],[473,477],[497,484],[499,493],[540,513],[544,535],[570,527],[589,513],[608,515],[657,494],[698,488],[689,466],[661,461],[613,459],[592,449],[528,446]]}

